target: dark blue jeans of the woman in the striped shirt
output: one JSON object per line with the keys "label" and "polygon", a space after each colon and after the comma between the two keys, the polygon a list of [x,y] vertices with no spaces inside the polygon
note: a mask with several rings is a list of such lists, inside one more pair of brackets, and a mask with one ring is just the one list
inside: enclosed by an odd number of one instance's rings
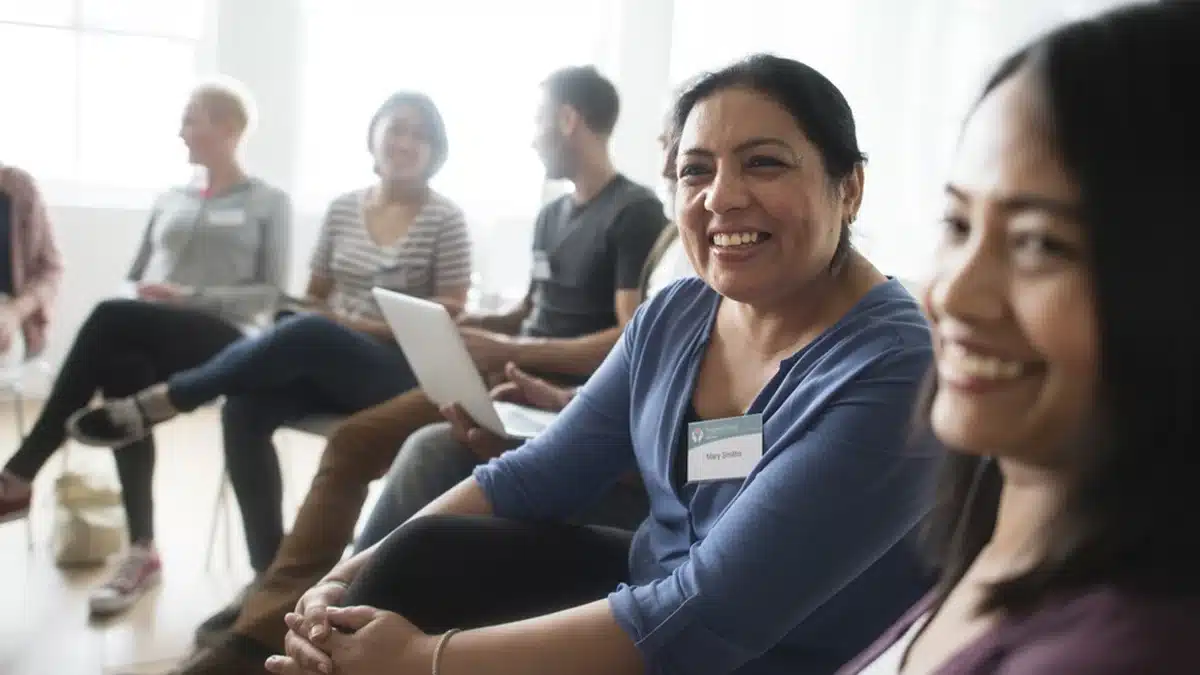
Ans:
{"label": "dark blue jeans of the woman in the striped shirt", "polygon": [[300,315],[174,374],[167,384],[182,411],[226,396],[226,467],[251,566],[264,572],[283,539],[275,431],[310,414],[359,412],[412,389],[416,378],[400,347],[318,315]]}

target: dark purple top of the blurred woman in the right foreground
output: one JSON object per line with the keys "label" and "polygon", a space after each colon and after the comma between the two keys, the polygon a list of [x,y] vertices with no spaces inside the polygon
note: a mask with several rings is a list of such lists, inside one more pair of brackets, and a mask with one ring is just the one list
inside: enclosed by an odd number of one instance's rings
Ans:
{"label": "dark purple top of the blurred woman in the right foreground", "polygon": [[[1200,573],[1200,572],[1198,572]],[[932,604],[926,597],[838,671],[862,673]],[[1102,587],[1046,603],[995,628],[934,675],[1194,675],[1200,673],[1200,598]]]}

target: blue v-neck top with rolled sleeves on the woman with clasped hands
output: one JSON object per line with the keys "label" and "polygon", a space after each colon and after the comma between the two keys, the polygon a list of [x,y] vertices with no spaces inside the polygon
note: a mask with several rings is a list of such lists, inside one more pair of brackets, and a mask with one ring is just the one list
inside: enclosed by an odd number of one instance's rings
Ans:
{"label": "blue v-neck top with rolled sleeves on the woman with clasped hands", "polygon": [[475,478],[499,516],[563,519],[636,466],[650,514],[608,602],[647,671],[829,674],[929,589],[912,538],[940,453],[911,432],[929,328],[899,281],[875,287],[755,399],[750,476],[677,490],[719,304],[698,279],[662,291],[554,424]]}

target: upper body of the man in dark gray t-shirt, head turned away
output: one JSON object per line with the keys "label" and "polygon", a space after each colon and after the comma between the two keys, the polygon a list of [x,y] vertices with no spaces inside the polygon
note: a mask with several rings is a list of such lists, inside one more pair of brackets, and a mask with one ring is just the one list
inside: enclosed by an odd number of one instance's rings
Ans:
{"label": "upper body of the man in dark gray t-shirt, head turned away", "polygon": [[654,192],[613,168],[617,91],[595,68],[564,68],[542,85],[534,147],[570,195],[538,214],[529,292],[511,311],[460,319],[480,371],[506,363],[562,383],[600,365],[641,303],[646,258],[667,223]]}

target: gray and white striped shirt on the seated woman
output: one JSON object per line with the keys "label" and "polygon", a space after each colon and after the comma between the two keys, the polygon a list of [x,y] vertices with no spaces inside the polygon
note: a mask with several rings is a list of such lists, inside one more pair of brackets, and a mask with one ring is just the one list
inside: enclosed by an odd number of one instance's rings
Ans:
{"label": "gray and white striped shirt on the seated woman", "polygon": [[470,285],[470,237],[454,202],[437,192],[397,241],[380,246],[367,232],[364,205],[368,190],[334,199],[325,214],[312,273],[334,281],[329,306],[350,318],[380,319],[371,288],[418,298],[437,298]]}

